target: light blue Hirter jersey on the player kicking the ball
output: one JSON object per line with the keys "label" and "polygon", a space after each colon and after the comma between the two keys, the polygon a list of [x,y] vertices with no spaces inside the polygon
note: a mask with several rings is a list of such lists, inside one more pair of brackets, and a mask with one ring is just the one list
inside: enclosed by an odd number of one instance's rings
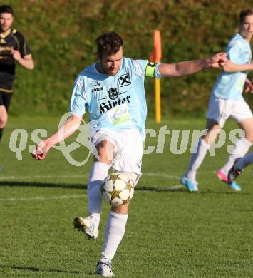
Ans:
{"label": "light blue Hirter jersey on the player kicking the ball", "polygon": [[[150,76],[154,63],[148,60],[123,58],[115,76],[102,74],[95,63],[76,78],[69,112],[83,115],[88,109],[94,130],[138,128],[145,140],[147,104],[144,80]],[[160,78],[155,66],[153,76]]]}

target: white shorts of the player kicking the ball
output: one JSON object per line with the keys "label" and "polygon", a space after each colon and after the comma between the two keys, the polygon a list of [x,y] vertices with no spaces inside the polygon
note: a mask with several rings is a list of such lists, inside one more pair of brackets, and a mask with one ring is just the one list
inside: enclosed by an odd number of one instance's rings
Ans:
{"label": "white shorts of the player kicking the ball", "polygon": [[99,130],[91,136],[93,153],[95,146],[102,140],[110,141],[115,148],[111,162],[115,171],[135,173],[139,179],[142,175],[141,160],[143,157],[143,140],[140,132],[135,128],[120,131]]}

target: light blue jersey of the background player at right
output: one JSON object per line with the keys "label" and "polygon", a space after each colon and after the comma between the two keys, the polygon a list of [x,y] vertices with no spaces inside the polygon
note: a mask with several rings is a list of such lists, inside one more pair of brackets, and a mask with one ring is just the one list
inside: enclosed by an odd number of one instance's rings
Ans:
{"label": "light blue jersey of the background player at right", "polygon": [[[240,34],[232,37],[227,45],[227,57],[233,63],[242,65],[250,63],[252,60],[252,51],[247,41]],[[238,71],[234,73],[220,73],[212,93],[217,98],[240,100],[242,91],[247,78],[247,71]]]}

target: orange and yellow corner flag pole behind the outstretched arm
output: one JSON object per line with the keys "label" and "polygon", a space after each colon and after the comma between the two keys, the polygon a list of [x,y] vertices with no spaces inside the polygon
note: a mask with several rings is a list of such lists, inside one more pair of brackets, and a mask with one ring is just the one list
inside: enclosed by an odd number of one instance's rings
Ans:
{"label": "orange and yellow corner flag pole behind the outstretched arm", "polygon": [[[154,63],[160,62],[162,58],[162,40],[159,30],[154,30],[154,48],[150,56],[150,61]],[[155,78],[155,121],[161,121],[161,92],[160,92],[160,79]]]}

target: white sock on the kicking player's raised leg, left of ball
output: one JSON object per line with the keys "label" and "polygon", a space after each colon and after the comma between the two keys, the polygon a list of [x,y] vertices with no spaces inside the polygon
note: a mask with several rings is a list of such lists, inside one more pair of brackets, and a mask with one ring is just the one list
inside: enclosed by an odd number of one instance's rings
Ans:
{"label": "white sock on the kicking player's raised leg, left of ball", "polygon": [[98,222],[98,214],[101,213],[103,201],[100,187],[103,180],[105,180],[105,177],[108,175],[109,168],[110,165],[95,161],[88,180],[88,211],[90,215],[94,214],[93,217],[95,217]]}

